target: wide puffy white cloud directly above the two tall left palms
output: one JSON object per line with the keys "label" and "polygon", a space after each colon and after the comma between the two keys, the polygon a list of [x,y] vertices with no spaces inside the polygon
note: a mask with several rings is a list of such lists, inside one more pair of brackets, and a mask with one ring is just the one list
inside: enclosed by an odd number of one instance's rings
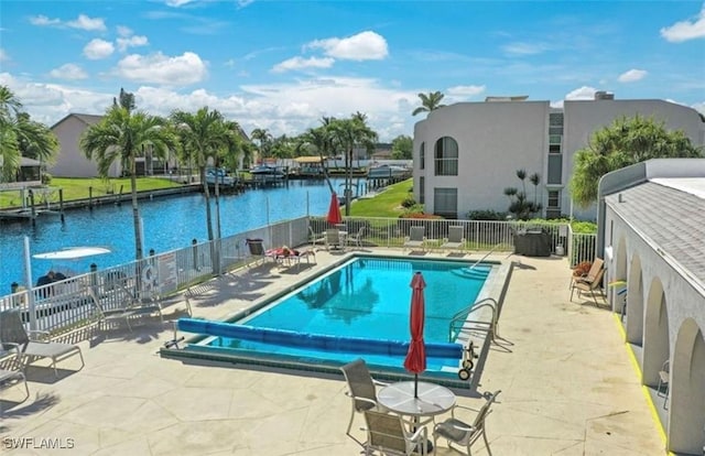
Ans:
{"label": "wide puffy white cloud directly above the two tall left palms", "polygon": [[167,86],[195,84],[207,76],[206,64],[193,52],[174,57],[161,52],[151,55],[131,54],[118,63],[116,73],[130,80]]}

